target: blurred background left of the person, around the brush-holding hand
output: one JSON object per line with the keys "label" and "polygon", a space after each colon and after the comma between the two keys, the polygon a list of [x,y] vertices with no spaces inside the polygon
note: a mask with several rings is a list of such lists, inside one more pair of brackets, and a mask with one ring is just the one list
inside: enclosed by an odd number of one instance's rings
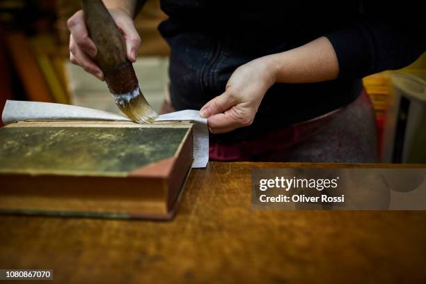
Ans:
{"label": "blurred background left of the person, around the brush-holding hand", "polygon": [[[0,0],[0,110],[13,99],[119,112],[107,85],[69,62],[67,20],[80,9],[79,0]],[[134,69],[157,111],[168,80],[169,49],[157,31],[165,18],[150,0],[135,20],[143,45]]]}

